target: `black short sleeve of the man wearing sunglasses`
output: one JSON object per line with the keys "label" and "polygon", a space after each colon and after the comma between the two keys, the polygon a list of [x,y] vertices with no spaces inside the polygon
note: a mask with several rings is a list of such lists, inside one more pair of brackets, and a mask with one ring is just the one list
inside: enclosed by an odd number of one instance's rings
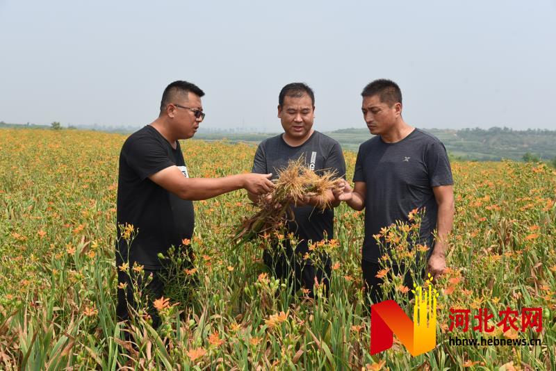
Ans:
{"label": "black short sleeve of the man wearing sunglasses", "polygon": [[149,138],[128,140],[122,149],[127,165],[137,173],[141,180],[174,164],[167,151]]}

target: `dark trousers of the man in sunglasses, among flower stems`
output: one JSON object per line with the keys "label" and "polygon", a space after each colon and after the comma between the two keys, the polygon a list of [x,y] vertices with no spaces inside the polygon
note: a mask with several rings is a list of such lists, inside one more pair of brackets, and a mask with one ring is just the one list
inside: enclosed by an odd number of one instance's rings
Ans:
{"label": "dark trousers of the man in sunglasses, among flower stems", "polygon": [[[117,281],[118,283],[127,283],[125,289],[118,288],[117,289],[117,307],[116,307],[116,315],[118,321],[126,321],[129,322],[130,313],[129,307],[137,310],[138,306],[133,297],[133,285],[136,285],[139,288],[142,288],[142,297],[148,295],[148,309],[147,312],[152,318],[153,327],[156,329],[160,325],[160,317],[158,316],[158,311],[153,306],[154,300],[163,296],[164,292],[164,283],[161,279],[161,274],[163,274],[163,270],[144,270],[143,278],[131,270],[131,277],[130,274],[127,272],[121,272],[118,270],[117,272]],[[146,280],[152,274],[152,281],[150,281],[145,288],[143,288],[142,280]],[[129,306],[129,307],[128,307]]]}

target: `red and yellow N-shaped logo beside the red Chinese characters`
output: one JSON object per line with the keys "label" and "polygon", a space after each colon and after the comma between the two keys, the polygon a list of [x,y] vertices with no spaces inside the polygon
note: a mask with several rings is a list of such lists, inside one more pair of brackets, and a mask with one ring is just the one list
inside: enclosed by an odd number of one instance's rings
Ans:
{"label": "red and yellow N-shaped logo beside the red Chinese characters", "polygon": [[430,351],[436,346],[436,297],[432,277],[427,279],[427,289],[417,286],[413,321],[393,300],[386,300],[370,307],[370,354],[390,349],[393,334],[412,356]]}

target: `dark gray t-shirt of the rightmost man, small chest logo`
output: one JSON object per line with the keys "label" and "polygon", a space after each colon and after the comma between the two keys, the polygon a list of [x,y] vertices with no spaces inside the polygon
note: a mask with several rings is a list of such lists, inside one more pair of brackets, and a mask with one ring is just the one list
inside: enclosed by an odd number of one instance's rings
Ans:
{"label": "dark gray t-shirt of the rightmost man, small chest logo", "polygon": [[433,247],[438,206],[432,188],[454,183],[438,138],[419,129],[395,143],[379,135],[370,138],[359,147],[353,181],[363,181],[367,188],[363,260],[377,263],[387,253],[373,235],[396,220],[409,222],[414,208],[425,208],[418,243]]}

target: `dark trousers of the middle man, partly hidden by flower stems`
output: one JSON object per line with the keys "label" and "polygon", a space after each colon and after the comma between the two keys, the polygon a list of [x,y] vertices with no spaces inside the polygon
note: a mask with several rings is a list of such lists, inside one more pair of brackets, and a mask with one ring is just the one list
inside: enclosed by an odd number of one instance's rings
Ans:
{"label": "dark trousers of the middle man, partly hidden by flower stems", "polygon": [[293,292],[306,288],[309,290],[309,297],[315,297],[313,285],[315,285],[316,279],[319,285],[325,285],[324,294],[328,296],[329,277],[332,272],[330,259],[322,256],[321,261],[324,262],[322,263],[324,267],[316,267],[311,261],[304,261],[297,256],[298,254],[294,254],[291,247],[287,247],[285,252],[277,249],[265,249],[263,261],[274,277],[285,279],[293,287]]}

